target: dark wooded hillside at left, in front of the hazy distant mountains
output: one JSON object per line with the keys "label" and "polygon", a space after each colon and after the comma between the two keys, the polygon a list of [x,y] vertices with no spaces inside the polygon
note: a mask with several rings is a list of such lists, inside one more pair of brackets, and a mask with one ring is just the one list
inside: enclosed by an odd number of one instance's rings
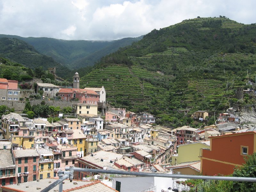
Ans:
{"label": "dark wooded hillside at left, in front of the hazy distant mountains", "polygon": [[69,70],[54,61],[52,57],[40,54],[32,45],[16,38],[0,38],[0,56],[32,69],[43,67],[44,70],[47,70],[48,68],[56,67],[56,74],[60,77],[65,76]]}

